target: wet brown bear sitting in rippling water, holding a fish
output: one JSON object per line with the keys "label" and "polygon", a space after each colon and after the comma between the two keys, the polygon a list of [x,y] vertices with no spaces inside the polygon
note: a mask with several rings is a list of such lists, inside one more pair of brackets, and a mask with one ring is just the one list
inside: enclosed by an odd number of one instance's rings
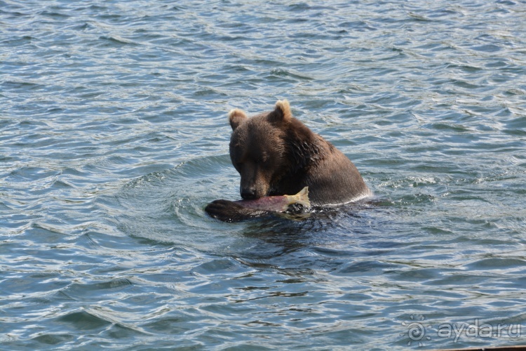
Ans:
{"label": "wet brown bear sitting in rippling water, holding a fish", "polygon": [[[251,118],[231,110],[229,121],[233,130],[230,158],[241,175],[243,199],[297,194],[309,187],[311,206],[328,206],[371,194],[342,152],[292,117],[287,100],[276,102],[274,111]],[[269,214],[227,200],[215,200],[205,211],[229,222]]]}

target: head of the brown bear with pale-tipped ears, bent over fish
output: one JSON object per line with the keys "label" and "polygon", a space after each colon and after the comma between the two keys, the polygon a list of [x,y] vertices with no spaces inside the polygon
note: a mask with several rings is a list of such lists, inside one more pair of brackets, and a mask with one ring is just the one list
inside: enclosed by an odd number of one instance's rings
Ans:
{"label": "head of the brown bear with pale-tipped ears, bent over fish", "polygon": [[248,118],[242,110],[229,113],[230,158],[241,175],[243,199],[269,196],[283,177],[306,166],[316,153],[313,133],[292,117],[287,100],[274,111]]}

